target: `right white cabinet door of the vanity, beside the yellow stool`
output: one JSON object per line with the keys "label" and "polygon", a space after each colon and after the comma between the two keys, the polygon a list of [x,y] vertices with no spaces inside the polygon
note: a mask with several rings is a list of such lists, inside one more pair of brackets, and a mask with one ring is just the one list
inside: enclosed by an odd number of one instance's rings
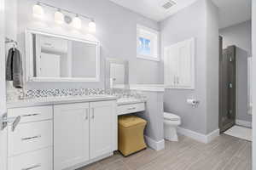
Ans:
{"label": "right white cabinet door of the vanity, beside the yellow stool", "polygon": [[90,159],[116,149],[117,115],[115,101],[90,103]]}

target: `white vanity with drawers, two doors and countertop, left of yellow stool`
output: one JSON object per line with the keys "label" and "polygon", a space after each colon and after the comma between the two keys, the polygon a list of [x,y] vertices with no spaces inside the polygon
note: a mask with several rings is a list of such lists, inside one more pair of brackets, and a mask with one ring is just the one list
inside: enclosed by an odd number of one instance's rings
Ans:
{"label": "white vanity with drawers, two doors and countertop, left of yellow stool", "polygon": [[75,169],[117,150],[113,96],[24,100],[8,108],[9,117],[20,116],[14,130],[8,127],[9,170]]}

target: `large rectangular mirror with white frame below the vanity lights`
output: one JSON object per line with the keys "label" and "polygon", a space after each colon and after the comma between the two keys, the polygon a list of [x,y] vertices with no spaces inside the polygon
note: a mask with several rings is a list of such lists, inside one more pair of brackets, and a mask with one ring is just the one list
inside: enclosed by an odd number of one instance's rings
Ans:
{"label": "large rectangular mirror with white frame below the vanity lights", "polygon": [[99,81],[99,42],[26,31],[26,51],[28,81]]}

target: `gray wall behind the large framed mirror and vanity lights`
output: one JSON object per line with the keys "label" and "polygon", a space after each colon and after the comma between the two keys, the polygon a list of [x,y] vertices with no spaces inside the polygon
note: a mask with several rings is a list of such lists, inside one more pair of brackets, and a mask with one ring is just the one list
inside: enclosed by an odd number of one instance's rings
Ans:
{"label": "gray wall behind the large framed mirror and vanity lights", "polygon": [[[128,59],[130,65],[131,83],[159,83],[159,63],[155,61],[137,59],[137,24],[159,30],[159,25],[142,15],[135,14],[108,0],[44,0],[43,2],[60,8],[68,8],[79,14],[85,14],[96,20],[95,37],[101,42],[101,82],[29,82],[26,88],[103,88],[104,87],[104,59],[107,57]],[[20,49],[25,54],[24,31],[32,22],[32,5],[34,0],[18,1],[18,40]],[[53,16],[51,16],[53,19]],[[49,19],[50,20],[50,17]],[[42,27],[56,27],[52,23],[40,21]],[[86,25],[85,25],[86,26]],[[72,34],[73,29],[67,27],[67,33]],[[81,31],[82,33],[84,30]],[[139,65],[139,66],[138,66]]]}

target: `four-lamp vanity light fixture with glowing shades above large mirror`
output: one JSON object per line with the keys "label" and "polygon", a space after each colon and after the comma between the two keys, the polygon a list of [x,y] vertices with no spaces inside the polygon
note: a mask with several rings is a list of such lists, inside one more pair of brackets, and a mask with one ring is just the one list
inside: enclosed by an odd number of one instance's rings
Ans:
{"label": "four-lamp vanity light fixture with glowing shades above large mirror", "polygon": [[[85,20],[89,20],[89,24],[88,24],[88,30],[92,33],[96,32],[96,23],[95,20],[93,18],[90,18],[89,16],[85,16],[83,14],[77,14],[74,13],[70,10],[67,10],[65,8],[58,8],[55,7],[53,5],[50,5],[48,3],[43,3],[43,2],[38,2],[37,4],[35,4],[33,6],[33,15],[37,16],[37,17],[42,17],[44,16],[44,8],[48,7],[48,8],[55,8],[56,12],[55,12],[55,22],[57,24],[63,24],[64,22],[66,22],[67,24],[70,24],[71,26],[73,26],[76,29],[81,29],[82,27],[82,20],[81,18],[84,18]],[[65,14],[63,14],[63,12],[65,12]],[[75,15],[75,17],[71,17],[70,15],[67,15],[67,13],[71,14],[71,16]]]}

